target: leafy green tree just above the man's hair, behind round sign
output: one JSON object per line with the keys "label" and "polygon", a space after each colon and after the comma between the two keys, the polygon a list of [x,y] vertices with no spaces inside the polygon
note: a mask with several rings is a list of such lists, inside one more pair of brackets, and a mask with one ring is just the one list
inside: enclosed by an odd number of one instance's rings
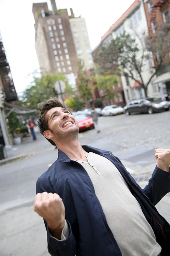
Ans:
{"label": "leafy green tree just above the man's hair, behind round sign", "polygon": [[57,96],[54,84],[59,80],[65,81],[66,87],[68,86],[68,81],[62,74],[46,74],[42,77],[34,76],[33,82],[26,88],[21,96],[21,105],[23,107],[36,109],[37,104],[44,99]]}

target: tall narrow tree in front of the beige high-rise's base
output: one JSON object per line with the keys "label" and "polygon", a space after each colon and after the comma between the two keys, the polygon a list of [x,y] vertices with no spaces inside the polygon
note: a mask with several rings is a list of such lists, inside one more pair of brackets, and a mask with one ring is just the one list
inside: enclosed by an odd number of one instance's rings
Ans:
{"label": "tall narrow tree in front of the beige high-rise's base", "polygon": [[91,88],[88,87],[88,81],[91,81],[91,78],[87,76],[84,62],[80,59],[78,61],[78,68],[77,90],[80,98],[87,103],[92,98]]}

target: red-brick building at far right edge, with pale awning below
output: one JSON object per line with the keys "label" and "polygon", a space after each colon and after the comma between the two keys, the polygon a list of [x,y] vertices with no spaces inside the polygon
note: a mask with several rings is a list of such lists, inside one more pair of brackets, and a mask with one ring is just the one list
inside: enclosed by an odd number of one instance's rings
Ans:
{"label": "red-brick building at far right edge, with pale awning below", "polygon": [[[144,9],[147,18],[149,36],[156,33],[156,29],[162,24],[170,23],[170,1],[169,0],[144,0]],[[170,37],[169,37],[170,38]],[[170,41],[168,42],[170,47]],[[159,53],[157,54],[159,58]],[[155,62],[155,65],[156,62]],[[162,99],[170,99],[170,52],[164,59],[164,65],[157,73],[157,78],[152,82],[159,90]]]}

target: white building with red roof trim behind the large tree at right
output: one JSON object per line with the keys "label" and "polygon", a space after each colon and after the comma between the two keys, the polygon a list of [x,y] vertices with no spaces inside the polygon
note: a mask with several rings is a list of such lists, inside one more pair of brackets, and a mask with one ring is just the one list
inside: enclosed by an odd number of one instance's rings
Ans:
{"label": "white building with red roof trim behind the large tree at right", "polygon": [[[132,5],[126,10],[126,12],[110,27],[110,29],[102,36],[101,42],[97,48],[101,45],[107,47],[113,38],[120,36],[123,32],[127,32],[132,38],[136,39],[136,43],[139,48],[139,58],[142,53],[142,47],[144,46],[144,38],[148,35],[147,19],[144,11],[144,3],[142,0],[135,0]],[[96,49],[92,52],[95,55]],[[142,78],[146,83],[151,74],[153,67],[153,59],[146,61],[142,69]],[[140,81],[140,77],[137,73],[134,74],[137,81]],[[126,102],[132,99],[139,99],[144,97],[144,89],[137,81],[125,76],[121,76],[122,86],[125,94]],[[153,84],[148,85],[148,96],[158,96],[159,90],[156,89]]]}

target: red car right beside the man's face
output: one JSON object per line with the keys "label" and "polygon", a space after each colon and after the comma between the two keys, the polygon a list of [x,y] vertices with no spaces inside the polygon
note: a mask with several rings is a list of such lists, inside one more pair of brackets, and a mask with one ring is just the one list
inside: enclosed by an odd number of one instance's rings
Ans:
{"label": "red car right beside the man's face", "polygon": [[94,128],[94,122],[91,116],[87,116],[85,114],[80,114],[75,116],[77,124],[79,126],[79,131],[88,130],[90,128]]}

